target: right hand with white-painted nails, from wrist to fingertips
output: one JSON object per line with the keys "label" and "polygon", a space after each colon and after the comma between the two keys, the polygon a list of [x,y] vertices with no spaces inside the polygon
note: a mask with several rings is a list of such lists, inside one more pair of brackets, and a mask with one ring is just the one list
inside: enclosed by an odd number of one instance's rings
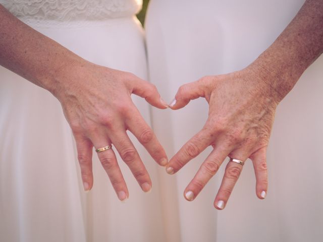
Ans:
{"label": "right hand with white-painted nails, from wrist to fingertips", "polygon": [[[191,138],[167,165],[174,174],[206,147],[213,151],[202,163],[184,192],[192,201],[216,174],[227,156],[245,161],[250,158],[256,175],[256,194],[263,199],[267,192],[266,147],[278,101],[266,84],[268,77],[253,66],[221,76],[208,76],[179,88],[172,109],[190,100],[204,97],[209,104],[208,119],[202,130]],[[263,77],[263,78],[262,78]],[[229,162],[226,166],[214,207],[224,209],[243,165]]]}

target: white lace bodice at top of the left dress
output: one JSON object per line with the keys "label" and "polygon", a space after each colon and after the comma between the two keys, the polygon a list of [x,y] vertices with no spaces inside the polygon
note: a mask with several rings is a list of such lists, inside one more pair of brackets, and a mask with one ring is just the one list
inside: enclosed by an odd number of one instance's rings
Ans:
{"label": "white lace bodice at top of the left dress", "polygon": [[24,22],[105,20],[135,15],[142,0],[0,0]]}

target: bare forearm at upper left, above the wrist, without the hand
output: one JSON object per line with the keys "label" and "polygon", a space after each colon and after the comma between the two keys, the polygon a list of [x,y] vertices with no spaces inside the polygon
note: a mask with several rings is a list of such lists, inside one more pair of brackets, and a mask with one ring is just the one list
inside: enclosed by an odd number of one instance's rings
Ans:
{"label": "bare forearm at upper left, above the wrist, without the hand", "polygon": [[55,92],[59,73],[81,58],[42,35],[0,5],[0,65]]}

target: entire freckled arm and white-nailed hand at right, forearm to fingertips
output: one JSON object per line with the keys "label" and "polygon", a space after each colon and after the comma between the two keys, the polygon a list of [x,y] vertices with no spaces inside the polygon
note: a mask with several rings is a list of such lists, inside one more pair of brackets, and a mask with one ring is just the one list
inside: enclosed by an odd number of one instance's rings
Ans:
{"label": "entire freckled arm and white-nailed hand at right, forearm to fingertips", "polygon": [[[226,75],[203,77],[180,87],[176,104],[171,108],[179,109],[190,100],[204,97],[209,104],[208,119],[202,130],[170,160],[167,170],[176,173],[206,147],[213,147],[184,196],[189,192],[195,198],[229,156],[252,160],[256,194],[264,199],[266,148],[276,107],[322,52],[323,1],[307,0],[277,40],[248,67]],[[192,147],[198,151],[194,156],[189,152]],[[225,207],[241,170],[241,164],[227,164],[214,207]]]}

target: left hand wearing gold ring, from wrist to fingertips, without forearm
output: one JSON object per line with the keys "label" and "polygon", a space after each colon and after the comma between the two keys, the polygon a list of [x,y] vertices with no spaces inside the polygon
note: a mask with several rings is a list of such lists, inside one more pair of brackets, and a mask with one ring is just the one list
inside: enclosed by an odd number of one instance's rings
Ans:
{"label": "left hand wearing gold ring, from wrist to fingertips, without forearm", "polygon": [[[93,186],[92,150],[111,145],[144,192],[151,180],[126,131],[132,132],[160,165],[166,165],[166,153],[131,100],[134,93],[158,108],[167,108],[156,88],[133,74],[85,61],[60,71],[52,93],[60,100],[76,141],[84,189]],[[98,153],[103,168],[120,200],[128,198],[127,185],[113,149]]]}

